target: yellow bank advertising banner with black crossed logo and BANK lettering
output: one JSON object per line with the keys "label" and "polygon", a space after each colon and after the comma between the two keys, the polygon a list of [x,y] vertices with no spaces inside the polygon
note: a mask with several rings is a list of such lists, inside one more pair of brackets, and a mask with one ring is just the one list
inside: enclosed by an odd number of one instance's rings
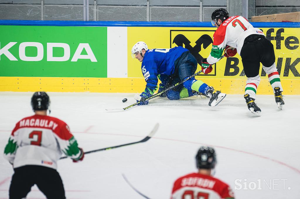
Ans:
{"label": "yellow bank advertising banner with black crossed logo and BANK lettering", "polygon": [[[173,48],[183,46],[190,50],[198,61],[197,71],[201,70],[201,59],[211,52],[213,34],[216,28],[211,27],[128,27],[128,52],[138,41],[144,41],[151,48]],[[281,79],[300,79],[300,32],[298,28],[261,28],[267,39],[274,45],[278,72]],[[141,33],[141,34],[135,34]],[[130,59],[128,55],[128,77],[143,77],[140,62]],[[214,70],[203,79],[245,79],[241,57],[223,58],[214,64]],[[260,68],[261,77],[265,71]],[[267,77],[265,77],[267,79]]]}

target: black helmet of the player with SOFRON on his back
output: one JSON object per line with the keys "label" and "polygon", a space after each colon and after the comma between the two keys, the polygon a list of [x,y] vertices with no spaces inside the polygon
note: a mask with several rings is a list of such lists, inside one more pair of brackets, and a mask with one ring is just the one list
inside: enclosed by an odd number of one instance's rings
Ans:
{"label": "black helmet of the player with SOFRON on his back", "polygon": [[198,169],[213,169],[217,163],[216,154],[212,147],[201,146],[196,155]]}

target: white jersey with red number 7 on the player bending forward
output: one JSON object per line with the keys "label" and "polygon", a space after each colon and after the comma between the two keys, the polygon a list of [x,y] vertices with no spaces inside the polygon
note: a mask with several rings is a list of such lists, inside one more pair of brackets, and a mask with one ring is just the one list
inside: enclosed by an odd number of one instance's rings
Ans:
{"label": "white jersey with red number 7 on the player bending forward", "polygon": [[214,32],[214,42],[207,62],[214,64],[219,61],[226,45],[236,48],[240,54],[245,38],[253,34],[264,35],[259,28],[254,28],[244,17],[229,17]]}

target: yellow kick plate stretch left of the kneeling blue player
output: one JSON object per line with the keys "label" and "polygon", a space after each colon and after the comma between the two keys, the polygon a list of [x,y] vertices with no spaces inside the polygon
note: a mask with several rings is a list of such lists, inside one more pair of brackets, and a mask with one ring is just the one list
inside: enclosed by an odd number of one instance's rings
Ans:
{"label": "yellow kick plate stretch left of the kneeling blue player", "polygon": [[144,78],[0,77],[0,91],[139,93]]}

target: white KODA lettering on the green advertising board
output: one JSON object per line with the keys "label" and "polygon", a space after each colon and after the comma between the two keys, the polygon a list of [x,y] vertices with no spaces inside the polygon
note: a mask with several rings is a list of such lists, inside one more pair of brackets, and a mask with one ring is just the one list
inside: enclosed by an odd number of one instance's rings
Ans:
{"label": "white KODA lettering on the green advertising board", "polygon": [[[18,59],[9,51],[11,47],[16,45],[17,42],[9,42],[5,46],[1,46],[0,43],[0,61],[1,56],[5,55],[10,61],[18,61]],[[36,56],[26,56],[26,47],[35,47],[37,49]],[[53,56],[53,48],[63,48],[63,56]],[[85,50],[86,54],[82,55],[82,51]],[[3,54],[3,55],[2,55]],[[77,62],[78,59],[89,59],[91,62],[98,62],[90,45],[88,43],[79,43],[75,53],[71,56],[70,46],[66,43],[47,43],[46,53],[44,53],[44,46],[39,42],[22,42],[19,44],[19,59],[27,62],[38,62],[47,57],[48,62],[65,62],[70,60],[71,62]]]}

